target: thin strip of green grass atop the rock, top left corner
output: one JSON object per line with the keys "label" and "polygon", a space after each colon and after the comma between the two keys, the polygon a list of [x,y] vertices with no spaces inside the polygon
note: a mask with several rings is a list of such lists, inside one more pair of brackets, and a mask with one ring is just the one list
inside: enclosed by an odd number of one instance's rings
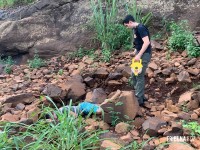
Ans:
{"label": "thin strip of green grass atop the rock, top left corner", "polygon": [[15,5],[24,5],[34,2],[35,0],[1,0],[0,8],[12,7]]}

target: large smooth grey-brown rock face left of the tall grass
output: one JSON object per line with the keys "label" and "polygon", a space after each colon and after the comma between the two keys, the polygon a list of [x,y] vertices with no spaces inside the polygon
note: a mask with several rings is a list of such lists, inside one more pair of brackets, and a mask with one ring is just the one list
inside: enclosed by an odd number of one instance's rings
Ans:
{"label": "large smooth grey-brown rock face left of the tall grass", "polygon": [[[89,1],[44,0],[0,15],[0,53],[51,57],[89,45]],[[81,16],[81,17],[80,17]]]}

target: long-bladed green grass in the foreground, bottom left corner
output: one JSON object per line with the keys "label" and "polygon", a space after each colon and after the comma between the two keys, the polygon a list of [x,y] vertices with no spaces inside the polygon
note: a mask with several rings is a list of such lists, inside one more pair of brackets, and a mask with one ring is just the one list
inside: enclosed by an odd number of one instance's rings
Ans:
{"label": "long-bladed green grass in the foreground, bottom left corner", "polygon": [[[54,106],[56,107],[55,104]],[[57,115],[58,119],[53,118],[52,112]],[[41,116],[46,114],[51,116],[51,122],[41,117],[29,126],[12,123],[4,127],[2,134],[0,133],[0,149],[93,150],[99,147],[101,141],[99,135],[107,132],[85,130],[83,117],[70,115],[69,110],[61,113],[57,107],[54,110],[45,107]],[[23,130],[13,135],[11,134],[13,128]]]}

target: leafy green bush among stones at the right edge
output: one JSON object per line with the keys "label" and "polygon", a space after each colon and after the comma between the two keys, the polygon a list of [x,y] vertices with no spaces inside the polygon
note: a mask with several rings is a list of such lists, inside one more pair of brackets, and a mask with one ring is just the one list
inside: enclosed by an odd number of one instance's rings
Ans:
{"label": "leafy green bush among stones at the right edge", "polygon": [[172,21],[170,31],[171,35],[168,39],[168,47],[171,51],[186,50],[190,57],[200,56],[200,46],[193,32],[190,31],[186,20],[178,23]]}

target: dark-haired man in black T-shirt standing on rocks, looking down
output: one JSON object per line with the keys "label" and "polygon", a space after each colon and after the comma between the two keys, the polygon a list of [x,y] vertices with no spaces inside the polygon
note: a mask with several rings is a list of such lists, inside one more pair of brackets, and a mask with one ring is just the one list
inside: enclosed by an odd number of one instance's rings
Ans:
{"label": "dark-haired man in black T-shirt standing on rocks, looking down", "polygon": [[130,29],[133,29],[134,34],[134,55],[135,61],[142,59],[142,72],[135,76],[133,74],[133,85],[135,89],[135,96],[138,99],[139,105],[143,106],[146,98],[144,97],[145,89],[145,72],[148,63],[151,60],[151,43],[149,30],[143,25],[135,21],[132,15],[127,15],[123,20],[123,24]]}

